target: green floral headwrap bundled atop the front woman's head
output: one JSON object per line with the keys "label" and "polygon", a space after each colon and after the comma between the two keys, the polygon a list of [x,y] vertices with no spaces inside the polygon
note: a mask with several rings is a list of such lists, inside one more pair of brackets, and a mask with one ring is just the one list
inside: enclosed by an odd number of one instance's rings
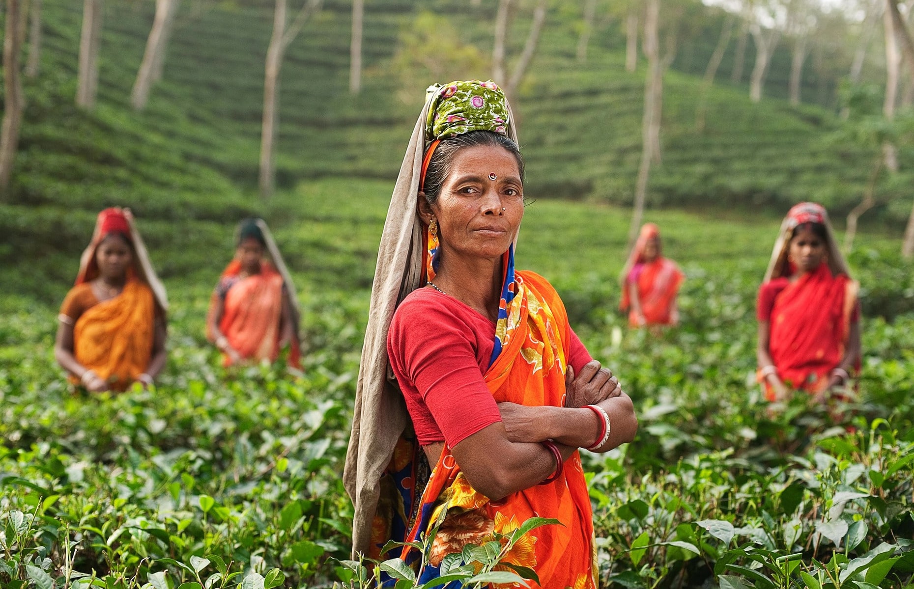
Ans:
{"label": "green floral headwrap bundled atop the front woman's head", "polygon": [[491,79],[455,81],[431,86],[426,139],[433,141],[462,135],[470,131],[494,131],[507,134],[508,114],[505,92]]}

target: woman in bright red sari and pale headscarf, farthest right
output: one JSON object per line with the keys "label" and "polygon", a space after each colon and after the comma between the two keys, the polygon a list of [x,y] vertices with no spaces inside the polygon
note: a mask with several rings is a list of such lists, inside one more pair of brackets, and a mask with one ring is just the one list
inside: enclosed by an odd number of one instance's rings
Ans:
{"label": "woman in bright red sari and pale headscarf, farthest right", "polygon": [[770,401],[790,389],[824,398],[860,362],[859,285],[822,205],[794,206],[759,289],[759,381]]}

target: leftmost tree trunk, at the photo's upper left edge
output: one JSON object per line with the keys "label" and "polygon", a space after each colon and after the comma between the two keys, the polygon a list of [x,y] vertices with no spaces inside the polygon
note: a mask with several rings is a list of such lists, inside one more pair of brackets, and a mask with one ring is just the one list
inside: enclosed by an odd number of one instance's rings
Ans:
{"label": "leftmost tree trunk, at the photo's upper left edge", "polygon": [[16,161],[19,128],[25,98],[19,76],[19,55],[22,50],[23,0],[6,0],[6,23],[3,41],[4,112],[0,127],[0,200],[9,201],[9,182]]}

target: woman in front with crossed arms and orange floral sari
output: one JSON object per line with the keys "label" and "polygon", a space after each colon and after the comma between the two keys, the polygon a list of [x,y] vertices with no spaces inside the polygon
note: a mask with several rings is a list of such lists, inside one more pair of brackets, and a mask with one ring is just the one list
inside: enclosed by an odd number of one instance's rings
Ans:
{"label": "woman in front with crossed arms and orange floral sari", "polygon": [[425,542],[399,554],[424,560],[425,582],[467,544],[555,518],[502,563],[533,569],[531,586],[595,588],[578,448],[631,441],[632,401],[547,280],[515,271],[523,161],[505,95],[477,80],[430,90],[378,254],[344,474],[354,552]]}

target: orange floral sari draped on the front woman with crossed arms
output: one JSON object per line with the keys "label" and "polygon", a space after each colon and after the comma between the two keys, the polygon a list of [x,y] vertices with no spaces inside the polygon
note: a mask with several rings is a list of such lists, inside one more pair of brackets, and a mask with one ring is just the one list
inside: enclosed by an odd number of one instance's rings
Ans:
{"label": "orange floral sari draped on the front woman with crossed arms", "polygon": [[[497,402],[563,406],[570,331],[564,306],[546,279],[532,272],[517,272],[516,277],[517,296],[507,308],[506,328],[496,331],[504,347],[484,374],[485,382]],[[563,525],[528,532],[503,562],[534,569],[543,587],[595,589],[590,496],[578,452],[555,481],[496,503],[470,486],[445,447],[422,494],[409,540],[442,521],[426,569],[435,575],[447,554],[460,552],[467,543],[482,543],[493,531],[507,534],[535,516]],[[408,561],[414,556],[409,548],[403,552]]]}

